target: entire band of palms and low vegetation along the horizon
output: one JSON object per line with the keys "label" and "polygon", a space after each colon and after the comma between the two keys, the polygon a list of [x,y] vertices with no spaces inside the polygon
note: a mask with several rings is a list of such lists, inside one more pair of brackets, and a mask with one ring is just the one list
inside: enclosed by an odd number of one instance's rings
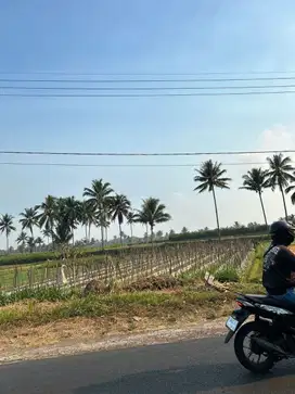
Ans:
{"label": "entire band of palms and low vegetation along the horizon", "polygon": [[[150,196],[142,201],[139,209],[133,208],[130,200],[125,194],[118,194],[108,182],[103,179],[94,179],[91,187],[84,189],[84,200],[75,196],[56,198],[48,195],[44,201],[29,208],[25,208],[20,214],[22,231],[18,234],[17,252],[33,253],[41,251],[56,251],[61,245],[93,245],[102,247],[110,244],[107,230],[111,223],[118,225],[118,238],[114,238],[113,243],[120,245],[139,242],[156,242],[163,240],[185,241],[203,240],[221,237],[257,236],[265,234],[268,228],[267,212],[265,209],[262,193],[266,189],[274,191],[278,189],[282,195],[285,218],[287,216],[285,195],[291,193],[291,201],[295,204],[295,168],[292,161],[283,154],[274,154],[267,157],[269,168],[252,168],[243,175],[243,183],[240,189],[245,189],[257,193],[262,211],[265,225],[249,224],[248,226],[236,225],[229,228],[221,228],[219,223],[217,189],[230,189],[231,178],[227,176],[227,169],[221,163],[214,163],[211,160],[204,162],[198,169],[194,181],[195,191],[203,193],[211,192],[216,215],[216,230],[203,229],[198,231],[184,231],[164,236],[162,231],[155,233],[155,227],[171,219],[166,206],[159,199]],[[180,207],[181,208],[181,207]],[[294,217],[293,217],[294,219]],[[121,230],[123,223],[130,227],[130,236],[126,236]],[[140,224],[145,227],[144,240],[133,237],[133,226]],[[196,219],[197,224],[197,219]],[[76,241],[75,230],[78,227],[85,229],[85,238]],[[101,241],[95,242],[91,238],[91,229],[100,228]],[[40,229],[42,237],[35,237],[36,229]],[[10,214],[0,217],[0,233],[5,237],[7,252],[14,252],[10,246],[10,236],[16,230],[14,217]],[[37,258],[37,257],[36,257]],[[25,259],[25,258],[24,258]],[[35,257],[33,258],[35,260]]]}

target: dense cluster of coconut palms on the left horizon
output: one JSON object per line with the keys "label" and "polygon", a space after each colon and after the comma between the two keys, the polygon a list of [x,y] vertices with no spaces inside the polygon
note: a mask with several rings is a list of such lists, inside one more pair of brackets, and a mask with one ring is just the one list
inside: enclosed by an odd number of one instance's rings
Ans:
{"label": "dense cluster of coconut palms on the left horizon", "polygon": [[[130,200],[125,194],[115,193],[111,183],[103,179],[94,179],[90,188],[84,189],[84,200],[75,196],[55,198],[48,195],[44,201],[34,207],[25,208],[20,214],[22,232],[16,242],[23,250],[34,250],[36,244],[42,244],[42,238],[35,239],[34,231],[40,228],[42,236],[51,242],[52,246],[66,244],[74,240],[74,231],[78,226],[85,228],[85,239],[90,240],[93,226],[101,229],[101,243],[107,240],[107,229],[112,221],[117,221],[119,239],[123,243],[121,225],[126,219],[130,226],[131,239],[134,224],[150,228],[151,240],[154,238],[154,228],[157,224],[166,223],[171,216],[166,212],[166,206],[159,199],[150,196],[142,201],[139,209],[133,209]],[[9,251],[10,234],[16,231],[14,217],[10,214],[1,215],[0,232],[7,237],[7,249]],[[28,233],[26,232],[28,231]]]}

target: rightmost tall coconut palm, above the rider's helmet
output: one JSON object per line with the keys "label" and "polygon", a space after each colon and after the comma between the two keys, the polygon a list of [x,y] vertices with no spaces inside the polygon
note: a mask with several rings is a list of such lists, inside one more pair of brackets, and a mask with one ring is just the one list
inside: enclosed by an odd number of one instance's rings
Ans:
{"label": "rightmost tall coconut palm, above the rider's helmet", "polygon": [[291,165],[291,157],[284,157],[282,153],[274,154],[272,157],[267,157],[267,161],[270,167],[268,171],[270,187],[272,191],[274,191],[277,187],[279,188],[283,199],[285,218],[287,218],[284,190],[286,189],[290,191],[290,182],[295,181],[295,177],[292,174],[295,168]]}

